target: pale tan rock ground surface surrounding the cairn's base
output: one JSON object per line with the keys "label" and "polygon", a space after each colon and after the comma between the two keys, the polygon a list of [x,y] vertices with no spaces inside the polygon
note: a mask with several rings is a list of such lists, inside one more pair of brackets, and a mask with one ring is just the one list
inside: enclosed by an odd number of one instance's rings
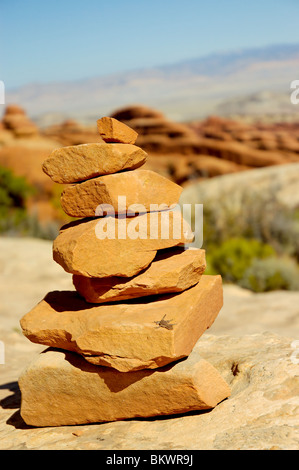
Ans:
{"label": "pale tan rock ground surface surrounding the cairn's base", "polygon": [[213,410],[83,426],[26,425],[17,381],[45,346],[28,341],[19,320],[46,292],[72,289],[72,280],[52,262],[49,241],[0,237],[0,248],[1,450],[298,449],[299,293],[254,294],[227,285],[221,314],[195,346],[232,389]]}

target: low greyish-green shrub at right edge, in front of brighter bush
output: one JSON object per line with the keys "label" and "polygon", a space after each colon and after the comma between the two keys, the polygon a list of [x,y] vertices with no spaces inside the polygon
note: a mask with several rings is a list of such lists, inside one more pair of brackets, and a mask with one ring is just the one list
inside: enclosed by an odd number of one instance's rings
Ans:
{"label": "low greyish-green shrub at right edge, in front of brighter bush", "polygon": [[239,284],[254,292],[299,290],[299,268],[289,257],[255,259]]}

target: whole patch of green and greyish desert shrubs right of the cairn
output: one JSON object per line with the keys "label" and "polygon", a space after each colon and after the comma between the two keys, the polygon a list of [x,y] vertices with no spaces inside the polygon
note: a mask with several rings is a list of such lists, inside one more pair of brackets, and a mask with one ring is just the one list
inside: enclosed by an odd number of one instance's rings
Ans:
{"label": "whole patch of green and greyish desert shrubs right of the cairn", "polygon": [[[241,204],[241,205],[240,205]],[[243,208],[243,209],[242,209]],[[271,192],[204,204],[207,272],[255,292],[299,289],[299,212]]]}

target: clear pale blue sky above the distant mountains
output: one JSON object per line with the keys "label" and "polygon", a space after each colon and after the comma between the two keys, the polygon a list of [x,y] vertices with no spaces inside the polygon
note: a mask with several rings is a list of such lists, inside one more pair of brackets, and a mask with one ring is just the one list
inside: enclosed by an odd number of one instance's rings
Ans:
{"label": "clear pale blue sky above the distant mountains", "polygon": [[299,43],[298,0],[0,0],[0,80],[80,80]]}

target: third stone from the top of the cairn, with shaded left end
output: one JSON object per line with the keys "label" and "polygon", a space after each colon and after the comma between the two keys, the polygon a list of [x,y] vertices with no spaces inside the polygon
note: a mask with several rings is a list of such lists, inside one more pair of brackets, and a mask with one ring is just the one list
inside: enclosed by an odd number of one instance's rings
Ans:
{"label": "third stone from the top of the cairn, with shaded left end", "polygon": [[154,171],[125,171],[67,186],[61,205],[71,217],[150,212],[176,205],[181,192],[181,186]]}

